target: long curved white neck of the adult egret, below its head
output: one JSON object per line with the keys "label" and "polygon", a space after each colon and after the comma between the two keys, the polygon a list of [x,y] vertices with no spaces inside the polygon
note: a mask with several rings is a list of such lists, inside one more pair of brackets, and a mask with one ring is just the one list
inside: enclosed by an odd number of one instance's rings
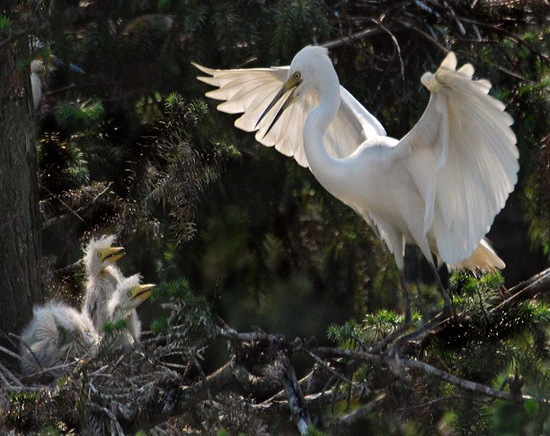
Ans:
{"label": "long curved white neck of the adult egret, below its head", "polygon": [[307,116],[304,124],[304,152],[310,169],[322,186],[332,195],[340,197],[344,166],[341,159],[333,157],[324,147],[324,136],[340,107],[340,85],[336,72],[329,83],[321,87],[320,103]]}

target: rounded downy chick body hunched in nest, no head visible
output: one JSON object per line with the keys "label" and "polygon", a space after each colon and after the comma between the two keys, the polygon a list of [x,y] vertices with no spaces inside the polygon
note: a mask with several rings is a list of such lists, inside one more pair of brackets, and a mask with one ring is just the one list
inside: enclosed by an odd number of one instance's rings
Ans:
{"label": "rounded downy chick body hunched in nest, no head visible", "polygon": [[[50,302],[32,308],[32,314],[32,320],[21,333],[26,344],[20,344],[20,355],[25,358],[21,365],[24,374],[39,370],[35,356],[42,368],[47,369],[97,353],[99,336],[90,318],[78,310],[63,303]],[[51,372],[59,375],[63,370],[58,368]]]}

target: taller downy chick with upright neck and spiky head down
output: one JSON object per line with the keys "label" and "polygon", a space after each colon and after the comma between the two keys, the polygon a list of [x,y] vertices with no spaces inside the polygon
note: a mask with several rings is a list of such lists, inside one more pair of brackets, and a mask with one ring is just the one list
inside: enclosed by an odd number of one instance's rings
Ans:
{"label": "taller downy chick with upright neck and spiky head down", "polygon": [[112,247],[113,235],[92,238],[85,248],[86,293],[82,313],[89,316],[98,332],[107,320],[106,302],[124,278],[114,263],[124,254],[123,247]]}

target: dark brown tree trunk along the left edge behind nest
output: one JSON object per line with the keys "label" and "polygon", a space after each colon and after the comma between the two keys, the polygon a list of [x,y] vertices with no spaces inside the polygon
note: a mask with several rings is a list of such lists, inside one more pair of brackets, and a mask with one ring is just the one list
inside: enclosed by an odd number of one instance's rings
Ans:
{"label": "dark brown tree trunk along the left edge behind nest", "polygon": [[[0,45],[0,329],[19,333],[42,297],[28,36]],[[3,341],[3,339],[0,339]]]}

